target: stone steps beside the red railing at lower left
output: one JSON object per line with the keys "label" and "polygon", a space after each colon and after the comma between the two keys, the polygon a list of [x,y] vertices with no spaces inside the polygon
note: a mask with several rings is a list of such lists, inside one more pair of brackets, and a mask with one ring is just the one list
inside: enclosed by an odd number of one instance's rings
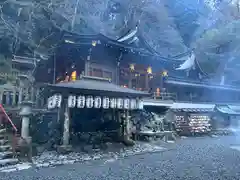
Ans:
{"label": "stone steps beside the red railing at lower left", "polygon": [[12,148],[12,137],[8,134],[7,129],[0,125],[0,168],[8,165],[15,165],[19,162],[14,158]]}

